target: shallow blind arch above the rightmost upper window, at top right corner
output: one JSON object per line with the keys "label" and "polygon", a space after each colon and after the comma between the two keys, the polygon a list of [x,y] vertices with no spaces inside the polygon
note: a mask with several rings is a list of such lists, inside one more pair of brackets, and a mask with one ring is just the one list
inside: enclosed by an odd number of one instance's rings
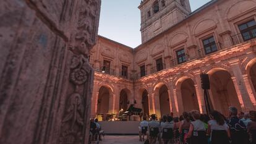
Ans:
{"label": "shallow blind arch above the rightmost upper window, at top right corner", "polygon": [[250,9],[253,9],[256,6],[254,1],[239,1],[233,4],[226,11],[227,19],[232,19],[236,15],[242,14]]}

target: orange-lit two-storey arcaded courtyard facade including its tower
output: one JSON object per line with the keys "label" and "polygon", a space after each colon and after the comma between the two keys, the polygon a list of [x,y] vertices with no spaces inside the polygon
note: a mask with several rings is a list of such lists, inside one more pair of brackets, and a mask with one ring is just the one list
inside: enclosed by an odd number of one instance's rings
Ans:
{"label": "orange-lit two-storey arcaded courtyard facade including its tower", "polygon": [[188,0],[144,0],[139,9],[140,46],[98,36],[90,51],[91,117],[130,104],[148,116],[206,112],[200,74],[210,77],[214,109],[256,109],[255,0],[213,0],[194,12]]}

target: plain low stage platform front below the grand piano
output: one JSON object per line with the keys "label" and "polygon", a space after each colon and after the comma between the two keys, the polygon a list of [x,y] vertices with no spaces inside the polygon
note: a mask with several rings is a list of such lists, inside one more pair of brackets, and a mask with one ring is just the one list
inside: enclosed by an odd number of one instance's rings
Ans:
{"label": "plain low stage platform front below the grand piano", "polygon": [[102,130],[106,134],[139,134],[139,125],[138,121],[114,121],[100,122]]}

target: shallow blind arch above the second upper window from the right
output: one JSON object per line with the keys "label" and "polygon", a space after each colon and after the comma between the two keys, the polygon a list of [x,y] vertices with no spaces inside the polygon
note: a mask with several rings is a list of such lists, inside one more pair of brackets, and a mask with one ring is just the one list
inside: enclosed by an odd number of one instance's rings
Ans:
{"label": "shallow blind arch above the second upper window from the right", "polygon": [[197,24],[195,24],[194,28],[193,28],[193,33],[194,35],[197,35],[198,33],[201,33],[205,30],[207,30],[208,28],[211,27],[215,27],[216,26],[216,22],[213,19],[203,19],[200,20],[199,22],[197,22]]}

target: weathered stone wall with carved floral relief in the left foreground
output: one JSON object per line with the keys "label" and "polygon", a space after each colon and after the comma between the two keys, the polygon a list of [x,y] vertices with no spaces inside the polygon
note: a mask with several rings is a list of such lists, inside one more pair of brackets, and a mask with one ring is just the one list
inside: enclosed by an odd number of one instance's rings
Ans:
{"label": "weathered stone wall with carved floral relief in the left foreground", "polygon": [[87,143],[100,0],[0,2],[0,143]]}

